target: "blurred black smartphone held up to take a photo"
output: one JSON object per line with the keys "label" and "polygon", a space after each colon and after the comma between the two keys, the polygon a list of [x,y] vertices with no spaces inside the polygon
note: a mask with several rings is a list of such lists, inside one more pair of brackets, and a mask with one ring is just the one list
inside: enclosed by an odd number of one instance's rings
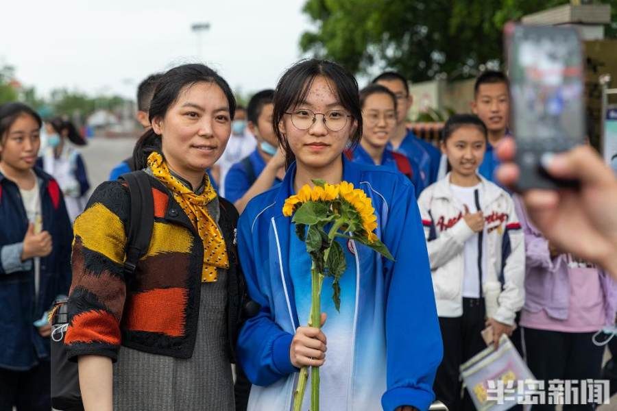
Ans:
{"label": "blurred black smartphone held up to take a photo", "polygon": [[583,47],[572,27],[505,27],[510,125],[516,138],[519,190],[577,186],[546,173],[545,155],[585,143]]}

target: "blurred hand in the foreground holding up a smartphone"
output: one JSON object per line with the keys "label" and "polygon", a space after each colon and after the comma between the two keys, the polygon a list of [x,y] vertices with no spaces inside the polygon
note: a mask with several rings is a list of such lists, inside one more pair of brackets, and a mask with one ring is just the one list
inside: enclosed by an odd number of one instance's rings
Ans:
{"label": "blurred hand in the foreground holding up a smartphone", "polygon": [[[520,169],[512,162],[516,144],[505,138],[496,154],[502,184],[513,186]],[[564,253],[594,262],[617,280],[617,178],[594,149],[580,146],[546,164],[555,177],[576,179],[579,190],[529,190],[522,199],[533,223]],[[608,205],[608,206],[607,206]],[[575,235],[573,235],[573,233]]]}

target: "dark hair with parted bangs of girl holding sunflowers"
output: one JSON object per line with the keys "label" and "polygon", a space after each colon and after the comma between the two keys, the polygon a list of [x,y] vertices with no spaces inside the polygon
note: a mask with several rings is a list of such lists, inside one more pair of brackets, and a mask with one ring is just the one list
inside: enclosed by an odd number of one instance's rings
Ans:
{"label": "dark hair with parted bangs of girl holding sunflowers", "polygon": [[328,84],[334,88],[332,92],[337,96],[339,103],[348,110],[352,121],[356,121],[356,127],[352,129],[350,136],[350,147],[356,147],[362,137],[362,109],[356,78],[335,62],[318,59],[300,60],[285,71],[274,90],[272,123],[280,147],[285,150],[287,167],[295,161],[295,155],[278,125],[285,117],[285,112],[289,112],[306,99],[315,77],[318,76],[326,77]]}

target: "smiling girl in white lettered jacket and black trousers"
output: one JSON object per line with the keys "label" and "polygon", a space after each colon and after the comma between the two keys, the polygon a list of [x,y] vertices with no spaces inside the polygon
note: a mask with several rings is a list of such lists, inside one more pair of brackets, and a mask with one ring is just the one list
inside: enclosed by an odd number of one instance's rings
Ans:
{"label": "smiling girl in white lettered jacket and black trousers", "polygon": [[486,141],[477,116],[450,117],[441,151],[452,171],[418,200],[444,340],[434,389],[450,410],[474,410],[466,392],[461,402],[459,366],[486,347],[485,327],[495,344],[511,335],[524,302],[523,235],[514,203],[477,173]]}

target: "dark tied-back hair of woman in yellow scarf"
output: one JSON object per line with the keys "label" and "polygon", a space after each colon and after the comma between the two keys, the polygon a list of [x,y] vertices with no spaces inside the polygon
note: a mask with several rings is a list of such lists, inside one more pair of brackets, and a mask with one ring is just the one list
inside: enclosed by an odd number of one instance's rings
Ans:
{"label": "dark tied-back hair of woman in yellow scarf", "polygon": [[[229,84],[221,77],[216,71],[210,69],[205,64],[182,64],[182,66],[174,67],[164,73],[154,89],[154,95],[152,101],[150,101],[150,108],[148,111],[148,120],[152,123],[152,120],[156,117],[163,118],[167,114],[167,110],[176,103],[180,92],[184,88],[193,86],[200,82],[216,84],[223,90],[223,94],[227,97],[229,105],[230,119],[234,119],[236,113],[236,99]],[[135,143],[133,149],[133,161],[135,163],[135,169],[145,169],[147,166],[148,155],[152,151],[158,151],[161,153],[161,136],[156,134],[151,128],[147,129],[145,133]]]}

